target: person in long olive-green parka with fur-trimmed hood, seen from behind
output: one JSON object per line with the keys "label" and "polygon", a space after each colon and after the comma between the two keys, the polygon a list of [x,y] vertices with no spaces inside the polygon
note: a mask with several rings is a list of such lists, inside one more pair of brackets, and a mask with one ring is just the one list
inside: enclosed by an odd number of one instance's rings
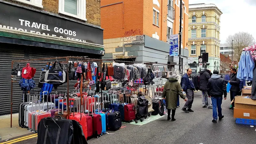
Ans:
{"label": "person in long olive-green parka with fur-trimmed hood, seen from behind", "polygon": [[171,117],[170,117],[171,110],[172,110],[172,120],[171,121],[176,120],[174,118],[174,115],[175,115],[175,111],[177,108],[177,100],[179,98],[178,95],[180,95],[180,97],[182,99],[184,99],[184,101],[187,101],[186,97],[182,93],[182,89],[178,82],[177,75],[172,73],[172,71],[171,71],[169,73],[169,80],[165,83],[164,91],[163,91],[163,98],[165,98],[165,100],[166,100],[166,108],[168,111],[167,120],[171,119]]}

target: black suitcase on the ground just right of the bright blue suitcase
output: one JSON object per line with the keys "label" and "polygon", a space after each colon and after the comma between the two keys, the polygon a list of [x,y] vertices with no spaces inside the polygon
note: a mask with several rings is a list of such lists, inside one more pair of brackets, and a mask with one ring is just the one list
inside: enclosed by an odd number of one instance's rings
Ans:
{"label": "black suitcase on the ground just right of the bright blue suitcase", "polygon": [[118,130],[122,126],[121,114],[119,111],[108,114],[108,129],[112,131]]}

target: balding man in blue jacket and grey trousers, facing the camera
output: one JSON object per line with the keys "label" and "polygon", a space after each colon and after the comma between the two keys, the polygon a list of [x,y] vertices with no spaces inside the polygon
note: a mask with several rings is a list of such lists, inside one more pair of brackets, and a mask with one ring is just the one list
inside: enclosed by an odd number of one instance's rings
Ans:
{"label": "balding man in blue jacket and grey trousers, facing the camera", "polygon": [[186,96],[188,98],[187,102],[185,103],[184,107],[182,108],[182,110],[185,113],[194,112],[191,109],[191,107],[192,107],[192,103],[194,101],[195,86],[192,81],[192,77],[190,76],[191,74],[192,74],[192,69],[188,68],[187,73],[184,76],[182,76],[182,78],[181,78],[181,88],[184,92],[186,92]]}

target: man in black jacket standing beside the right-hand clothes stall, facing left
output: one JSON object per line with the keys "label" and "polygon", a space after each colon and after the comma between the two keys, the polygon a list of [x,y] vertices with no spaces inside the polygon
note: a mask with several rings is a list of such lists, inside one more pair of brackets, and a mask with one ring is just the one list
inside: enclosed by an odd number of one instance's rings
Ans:
{"label": "man in black jacket standing beside the right-hand clothes stall, facing left", "polygon": [[[238,78],[236,78],[236,68],[231,68],[231,76],[230,76],[230,81],[228,81],[231,85],[230,88],[230,100],[232,101],[234,99],[235,96],[239,95],[239,91],[240,91],[240,80]],[[232,103],[232,105],[230,105],[229,109],[234,109],[235,105],[234,103]]]}

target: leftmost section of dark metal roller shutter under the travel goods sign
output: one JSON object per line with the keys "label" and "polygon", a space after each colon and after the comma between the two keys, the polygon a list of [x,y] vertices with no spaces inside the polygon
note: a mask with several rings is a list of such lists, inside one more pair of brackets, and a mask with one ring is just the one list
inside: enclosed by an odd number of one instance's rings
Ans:
{"label": "leftmost section of dark metal roller shutter under the travel goods sign", "polygon": [[[11,113],[11,67],[12,60],[24,60],[24,49],[19,45],[0,44],[0,115]],[[16,67],[18,63],[14,63]],[[21,68],[24,63],[20,63]],[[22,100],[22,91],[19,86],[19,77],[13,83],[13,113],[19,112]]]}

